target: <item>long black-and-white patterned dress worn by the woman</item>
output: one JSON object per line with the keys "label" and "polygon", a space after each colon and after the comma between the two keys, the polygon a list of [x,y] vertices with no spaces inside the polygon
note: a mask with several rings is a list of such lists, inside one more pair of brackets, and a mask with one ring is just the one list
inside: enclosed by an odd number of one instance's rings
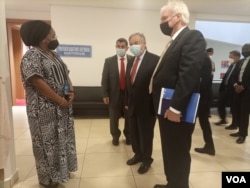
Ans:
{"label": "long black-and-white patterned dress worn by the woman", "polygon": [[72,106],[60,107],[29,82],[32,76],[40,76],[63,97],[67,66],[56,54],[51,58],[34,47],[23,56],[20,68],[38,180],[43,184],[67,182],[69,172],[77,170]]}

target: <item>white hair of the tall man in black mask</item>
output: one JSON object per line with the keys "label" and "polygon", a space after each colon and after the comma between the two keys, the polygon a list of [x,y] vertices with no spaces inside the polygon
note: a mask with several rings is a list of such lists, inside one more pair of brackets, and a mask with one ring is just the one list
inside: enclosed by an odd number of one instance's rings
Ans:
{"label": "white hair of the tall man in black mask", "polygon": [[168,3],[161,8],[161,13],[165,11],[166,8],[170,8],[173,11],[173,15],[181,14],[182,21],[185,24],[189,23],[189,10],[183,1],[169,0]]}

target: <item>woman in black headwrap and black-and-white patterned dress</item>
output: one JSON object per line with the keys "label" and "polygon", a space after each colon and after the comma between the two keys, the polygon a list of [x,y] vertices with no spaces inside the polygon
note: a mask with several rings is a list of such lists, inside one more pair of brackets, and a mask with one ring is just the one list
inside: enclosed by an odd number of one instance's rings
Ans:
{"label": "woman in black headwrap and black-and-white patterned dress", "polygon": [[30,47],[20,68],[38,180],[53,188],[67,182],[69,172],[77,170],[73,86],[66,64],[54,52],[58,41],[49,24],[28,21],[20,34]]}

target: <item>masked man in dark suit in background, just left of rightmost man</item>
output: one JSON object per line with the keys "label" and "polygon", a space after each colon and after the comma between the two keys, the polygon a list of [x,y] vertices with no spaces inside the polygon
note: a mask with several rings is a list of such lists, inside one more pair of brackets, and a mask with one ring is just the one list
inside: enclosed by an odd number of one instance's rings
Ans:
{"label": "masked man in dark suit in background, just left of rightmost man", "polygon": [[[233,50],[229,52],[230,66],[225,73],[219,88],[219,101],[218,101],[218,112],[220,121],[216,122],[215,125],[227,124],[226,121],[226,106],[231,107],[231,101],[234,94],[234,86],[232,82],[232,73],[235,69],[236,63],[240,60],[240,52]],[[231,107],[231,112],[232,112]],[[232,118],[232,124],[226,127],[228,130],[237,129],[238,125],[235,123],[235,119]]]}

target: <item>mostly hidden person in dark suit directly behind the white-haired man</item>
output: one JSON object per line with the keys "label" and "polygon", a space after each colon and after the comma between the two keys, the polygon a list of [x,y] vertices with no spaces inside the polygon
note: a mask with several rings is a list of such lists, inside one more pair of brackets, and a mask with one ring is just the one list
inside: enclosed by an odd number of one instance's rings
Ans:
{"label": "mostly hidden person in dark suit directly behind the white-haired man", "polygon": [[212,129],[209,122],[210,101],[212,95],[212,82],[211,76],[212,64],[211,59],[204,54],[204,61],[201,67],[201,85],[200,85],[200,103],[198,109],[199,122],[202,129],[203,139],[205,146],[203,148],[195,148],[198,153],[205,153],[215,155],[214,141],[212,137]]}

